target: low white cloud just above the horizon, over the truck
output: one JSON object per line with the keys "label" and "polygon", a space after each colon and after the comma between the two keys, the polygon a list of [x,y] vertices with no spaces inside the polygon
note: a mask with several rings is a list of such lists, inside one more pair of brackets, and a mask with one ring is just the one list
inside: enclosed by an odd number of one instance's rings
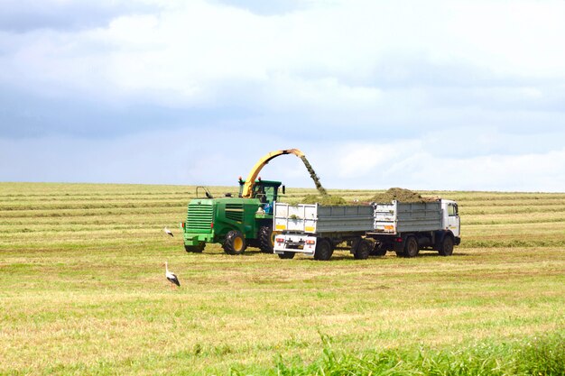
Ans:
{"label": "low white cloud just above the horizon, over the truck", "polygon": [[[553,136],[564,140],[565,131]],[[521,152],[502,154],[488,146],[505,140]],[[544,150],[536,145],[540,140],[530,134],[472,134],[454,129],[449,134],[430,133],[421,139],[329,145],[331,153],[320,158],[317,150],[317,162],[312,165],[329,188],[562,191],[565,148],[561,145]],[[459,144],[469,148],[477,145],[488,152],[460,153]]]}

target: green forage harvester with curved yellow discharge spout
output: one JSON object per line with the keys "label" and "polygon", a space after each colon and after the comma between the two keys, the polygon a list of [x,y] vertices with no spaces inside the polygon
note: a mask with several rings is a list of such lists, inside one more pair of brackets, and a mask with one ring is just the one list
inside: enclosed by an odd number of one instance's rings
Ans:
{"label": "green forage harvester with curved yellow discharge spout", "polygon": [[185,251],[203,252],[207,243],[220,243],[227,254],[241,254],[248,245],[273,253],[273,203],[285,188],[280,181],[258,175],[270,160],[285,154],[304,157],[298,149],[266,154],[246,179],[239,178],[238,197],[213,197],[207,188],[196,188],[196,198],[190,200],[181,222]]}

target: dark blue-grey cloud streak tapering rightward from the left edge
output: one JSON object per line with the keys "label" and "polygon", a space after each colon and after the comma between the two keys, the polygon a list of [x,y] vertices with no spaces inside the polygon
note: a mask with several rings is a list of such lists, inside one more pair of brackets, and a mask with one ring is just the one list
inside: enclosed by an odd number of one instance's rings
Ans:
{"label": "dark blue-grey cloud streak tapering rightward from the left edge", "polygon": [[[152,129],[199,128],[214,124],[229,129],[248,113],[227,105],[171,108],[153,103],[108,105],[88,97],[44,97],[0,87],[0,138],[51,136],[107,138]],[[239,120],[238,120],[239,119]]]}

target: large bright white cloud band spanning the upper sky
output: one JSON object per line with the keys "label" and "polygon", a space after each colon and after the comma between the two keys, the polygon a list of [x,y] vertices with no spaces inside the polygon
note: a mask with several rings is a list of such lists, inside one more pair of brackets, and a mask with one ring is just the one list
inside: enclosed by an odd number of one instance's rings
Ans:
{"label": "large bright white cloud band spanning the upper sky", "polygon": [[[40,87],[151,96],[177,105],[213,103],[233,80],[285,92],[281,77],[300,79],[294,85],[299,95],[323,101],[324,82],[369,90],[364,82],[378,77],[378,67],[390,59],[565,78],[565,52],[556,48],[565,36],[565,4],[558,1],[347,1],[270,16],[203,0],[160,3],[158,13],[120,15],[107,27],[16,37],[21,43],[11,45],[3,64]],[[402,69],[397,74],[402,77]],[[535,87],[523,93],[533,94]],[[343,105],[358,98],[346,99]]]}

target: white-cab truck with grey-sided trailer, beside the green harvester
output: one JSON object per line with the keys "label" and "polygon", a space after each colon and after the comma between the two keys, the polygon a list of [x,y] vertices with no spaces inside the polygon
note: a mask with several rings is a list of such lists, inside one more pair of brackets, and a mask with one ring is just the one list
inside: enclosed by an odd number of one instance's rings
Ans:
{"label": "white-cab truck with grey-sided trailer, beside the green harvester", "polygon": [[339,244],[356,259],[395,252],[414,257],[421,250],[450,256],[461,242],[458,204],[430,202],[371,203],[357,206],[274,203],[273,252],[282,259],[296,253],[327,261]]}

